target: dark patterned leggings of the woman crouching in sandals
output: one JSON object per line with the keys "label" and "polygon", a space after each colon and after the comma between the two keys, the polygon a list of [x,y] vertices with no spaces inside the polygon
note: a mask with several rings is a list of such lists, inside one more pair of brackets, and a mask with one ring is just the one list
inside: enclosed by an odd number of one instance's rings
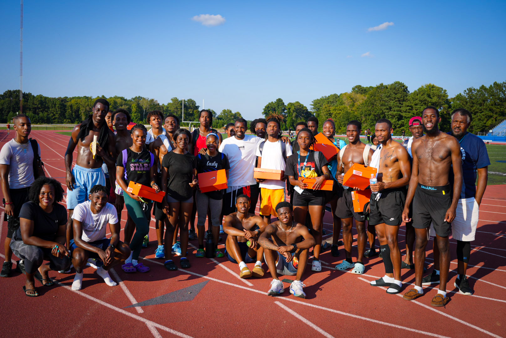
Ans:
{"label": "dark patterned leggings of the woman crouching in sandals", "polygon": [[25,244],[22,240],[11,240],[11,249],[14,255],[25,260],[26,273],[32,274],[44,263],[46,259],[49,261],[51,270],[60,271],[68,270],[72,261],[70,257],[58,258],[51,254],[51,248],[39,247],[35,245]]}

